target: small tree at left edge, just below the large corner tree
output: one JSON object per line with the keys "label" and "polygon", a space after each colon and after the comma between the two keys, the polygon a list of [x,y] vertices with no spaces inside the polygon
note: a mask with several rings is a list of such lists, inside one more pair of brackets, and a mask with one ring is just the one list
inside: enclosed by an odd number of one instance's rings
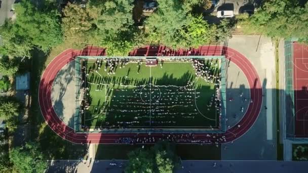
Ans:
{"label": "small tree at left edge, just below the large corner tree", "polygon": [[6,76],[13,76],[18,71],[18,64],[7,56],[0,58],[0,73]]}

